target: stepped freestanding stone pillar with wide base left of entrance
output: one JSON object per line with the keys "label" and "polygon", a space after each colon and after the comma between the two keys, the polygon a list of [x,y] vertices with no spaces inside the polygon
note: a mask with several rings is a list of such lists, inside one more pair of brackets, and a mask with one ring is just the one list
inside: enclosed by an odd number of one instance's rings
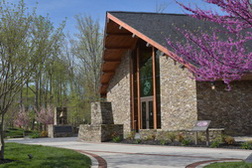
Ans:
{"label": "stepped freestanding stone pillar with wide base left of entrance", "polygon": [[91,125],[80,125],[78,138],[84,141],[104,142],[119,136],[123,138],[123,125],[114,124],[110,102],[91,104]]}

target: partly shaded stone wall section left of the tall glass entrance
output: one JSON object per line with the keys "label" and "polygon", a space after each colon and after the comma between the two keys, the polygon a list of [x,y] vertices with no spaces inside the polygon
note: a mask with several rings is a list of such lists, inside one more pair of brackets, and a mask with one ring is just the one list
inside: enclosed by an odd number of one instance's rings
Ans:
{"label": "partly shaded stone wall section left of the tall glass entrance", "polygon": [[107,101],[112,103],[115,124],[124,125],[124,134],[131,130],[130,116],[130,52],[122,57],[121,64],[110,81],[107,90]]}

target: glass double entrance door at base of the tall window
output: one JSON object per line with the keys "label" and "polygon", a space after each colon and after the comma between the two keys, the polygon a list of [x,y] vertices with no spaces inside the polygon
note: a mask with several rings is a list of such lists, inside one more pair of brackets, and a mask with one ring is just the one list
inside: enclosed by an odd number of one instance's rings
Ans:
{"label": "glass double entrance door at base of the tall window", "polygon": [[142,129],[153,129],[153,98],[141,98]]}

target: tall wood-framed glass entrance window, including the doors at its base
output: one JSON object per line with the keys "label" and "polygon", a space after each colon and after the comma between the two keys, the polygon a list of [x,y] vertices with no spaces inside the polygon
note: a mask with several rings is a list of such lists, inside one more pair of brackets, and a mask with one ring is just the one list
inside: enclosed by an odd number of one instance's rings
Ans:
{"label": "tall wood-framed glass entrance window, including the doors at its base", "polygon": [[[161,128],[160,112],[160,52],[155,50],[155,59],[152,58],[153,47],[147,47],[143,40],[138,41],[133,52],[133,96],[135,129],[153,129],[154,123]],[[155,61],[155,64],[152,61]],[[155,75],[153,74],[155,65]],[[139,70],[139,71],[138,71]],[[139,76],[138,76],[139,75]],[[156,97],[153,97],[153,76],[156,81]],[[138,78],[139,77],[139,78]],[[139,95],[138,95],[139,92]],[[156,98],[156,104],[153,99]],[[156,108],[156,109],[154,109]],[[156,115],[156,116],[154,116]],[[156,121],[154,119],[156,118]],[[140,127],[140,128],[139,128]]]}

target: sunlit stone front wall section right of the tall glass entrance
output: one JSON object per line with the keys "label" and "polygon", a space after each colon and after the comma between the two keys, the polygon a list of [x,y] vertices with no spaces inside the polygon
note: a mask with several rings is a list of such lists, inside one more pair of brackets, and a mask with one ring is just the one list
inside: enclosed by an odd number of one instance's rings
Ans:
{"label": "sunlit stone front wall section right of the tall glass entrance", "polygon": [[197,120],[196,82],[171,58],[160,57],[162,130],[191,129]]}

